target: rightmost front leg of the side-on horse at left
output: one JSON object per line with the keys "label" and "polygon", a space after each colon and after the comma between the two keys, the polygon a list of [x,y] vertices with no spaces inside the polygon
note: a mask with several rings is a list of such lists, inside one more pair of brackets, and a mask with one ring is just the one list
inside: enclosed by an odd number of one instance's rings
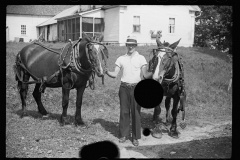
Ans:
{"label": "rightmost front leg of the side-on horse at left", "polygon": [[85,86],[77,88],[77,101],[76,101],[76,113],[75,113],[75,126],[84,125],[81,117],[82,97],[85,90]]}

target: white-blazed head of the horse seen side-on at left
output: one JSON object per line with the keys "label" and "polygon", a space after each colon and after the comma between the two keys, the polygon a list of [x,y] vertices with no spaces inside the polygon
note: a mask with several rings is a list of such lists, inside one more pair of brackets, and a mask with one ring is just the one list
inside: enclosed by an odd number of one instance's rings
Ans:
{"label": "white-blazed head of the horse seen side-on at left", "polygon": [[89,56],[89,61],[97,76],[102,77],[104,75],[103,67],[107,67],[108,58],[108,50],[106,46],[101,43],[101,41],[103,40],[103,35],[99,37],[89,37],[85,33],[83,34],[88,41],[88,43],[86,44],[86,52]]}

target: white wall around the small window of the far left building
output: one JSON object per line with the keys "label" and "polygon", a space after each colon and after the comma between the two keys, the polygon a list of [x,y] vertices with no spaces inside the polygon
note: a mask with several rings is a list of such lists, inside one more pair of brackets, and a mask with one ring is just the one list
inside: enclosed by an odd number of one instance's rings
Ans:
{"label": "white wall around the small window of the far left building", "polygon": [[[37,38],[36,26],[51,16],[13,15],[7,14],[6,26],[8,26],[8,40],[14,41],[15,37],[24,38],[24,42]],[[21,35],[21,25],[26,25],[26,35]]]}

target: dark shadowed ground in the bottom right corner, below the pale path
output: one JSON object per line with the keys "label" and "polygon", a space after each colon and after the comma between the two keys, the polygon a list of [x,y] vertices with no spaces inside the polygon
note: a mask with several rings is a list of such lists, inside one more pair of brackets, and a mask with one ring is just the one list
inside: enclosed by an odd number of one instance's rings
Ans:
{"label": "dark shadowed ground in the bottom right corner, below the pale path", "polygon": [[126,147],[126,149],[140,152],[149,158],[231,158],[232,137],[218,137],[156,146]]}

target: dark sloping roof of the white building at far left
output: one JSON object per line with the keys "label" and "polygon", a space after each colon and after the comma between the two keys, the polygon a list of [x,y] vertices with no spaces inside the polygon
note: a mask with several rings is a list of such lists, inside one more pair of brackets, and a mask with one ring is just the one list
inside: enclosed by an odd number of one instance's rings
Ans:
{"label": "dark sloping roof of the white building at far left", "polygon": [[7,13],[23,15],[55,16],[74,5],[8,5]]}

